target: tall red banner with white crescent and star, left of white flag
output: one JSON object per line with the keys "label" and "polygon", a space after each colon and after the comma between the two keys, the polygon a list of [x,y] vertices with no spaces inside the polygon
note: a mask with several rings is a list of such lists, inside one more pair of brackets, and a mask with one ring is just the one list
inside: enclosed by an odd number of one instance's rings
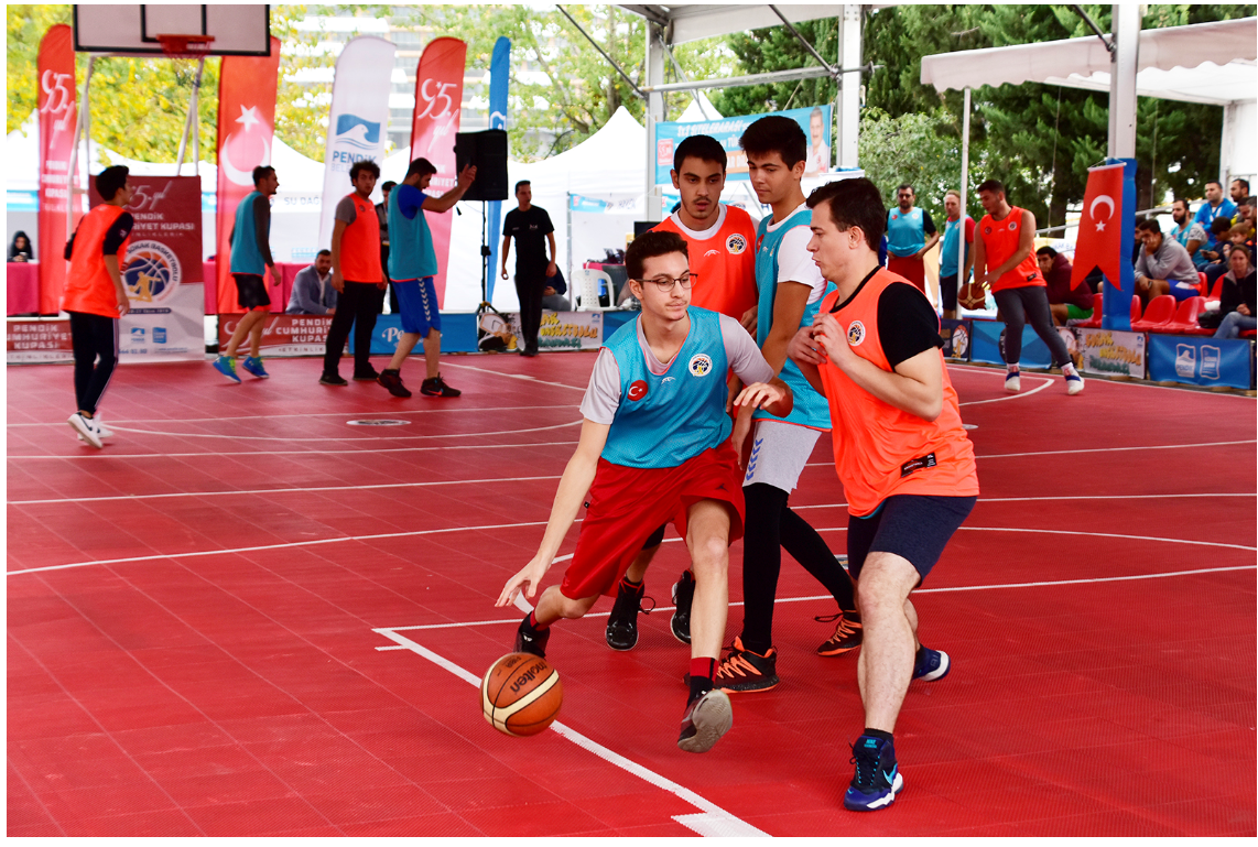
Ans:
{"label": "tall red banner with white crescent and star, left of white flag", "polygon": [[270,39],[270,55],[223,57],[219,73],[219,208],[215,216],[216,302],[220,313],[242,311],[230,273],[231,230],[235,228],[237,206],[253,191],[253,169],[270,164],[278,84],[278,38]]}

